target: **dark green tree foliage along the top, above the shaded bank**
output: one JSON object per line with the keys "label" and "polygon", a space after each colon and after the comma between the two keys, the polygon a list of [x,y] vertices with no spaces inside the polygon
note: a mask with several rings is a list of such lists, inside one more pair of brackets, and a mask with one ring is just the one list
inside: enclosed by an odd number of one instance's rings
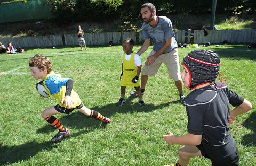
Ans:
{"label": "dark green tree foliage along the top, above the shaded bank", "polygon": [[[140,6],[151,2],[157,15],[166,13],[211,13],[212,0],[46,0],[55,17],[75,21],[132,21],[140,17]],[[217,14],[256,13],[255,0],[217,1]]]}

